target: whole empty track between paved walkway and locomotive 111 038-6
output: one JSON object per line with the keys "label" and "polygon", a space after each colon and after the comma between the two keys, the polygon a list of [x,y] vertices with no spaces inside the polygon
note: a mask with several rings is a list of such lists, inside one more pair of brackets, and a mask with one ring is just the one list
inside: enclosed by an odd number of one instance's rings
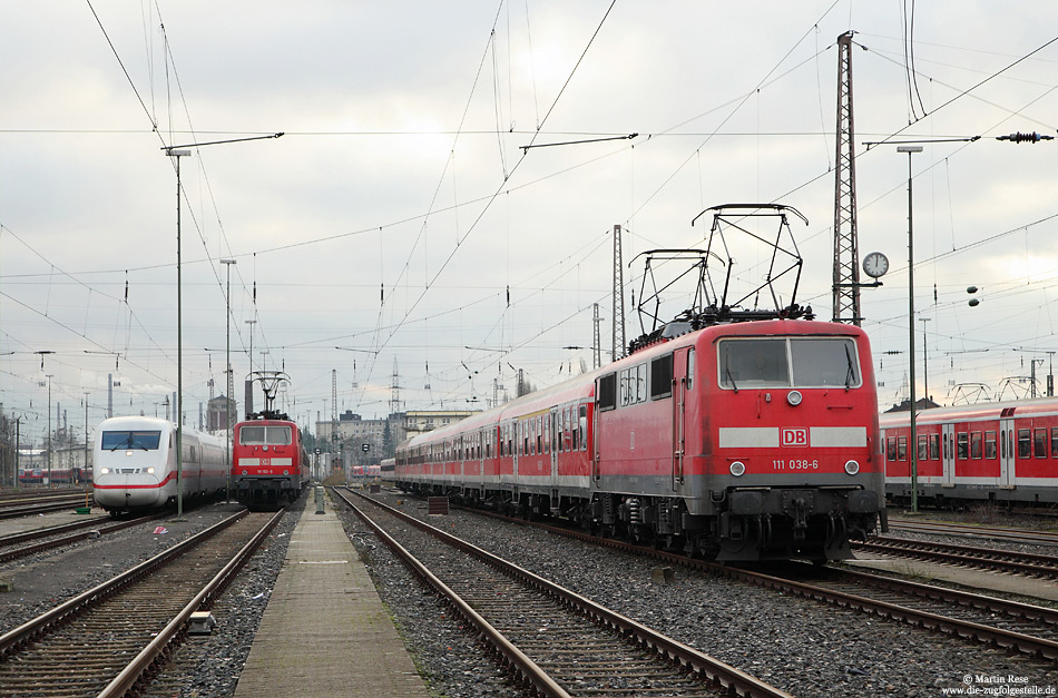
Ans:
{"label": "whole empty track between paved walkway and locomotive 111 038-6", "polygon": [[788,696],[381,502],[360,495],[379,508],[369,517],[334,492],[541,695]]}

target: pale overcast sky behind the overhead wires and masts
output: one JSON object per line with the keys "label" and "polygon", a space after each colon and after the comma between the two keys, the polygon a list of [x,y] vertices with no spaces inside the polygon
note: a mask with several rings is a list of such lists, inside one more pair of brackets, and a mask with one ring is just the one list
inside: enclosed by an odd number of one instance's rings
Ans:
{"label": "pale overcast sky behind the overhead wires and masts", "polygon": [[[50,375],[52,414],[61,405],[82,430],[87,394],[91,429],[111,374],[115,413],[164,414],[177,222],[161,148],[280,131],[182,159],[192,424],[210,379],[225,392],[228,326],[235,396],[252,370],[283,368],[282,406],[303,423],[330,414],[332,371],[339,411],[365,417],[389,412],[394,366],[402,409],[487,406],[519,368],[537,386],[565,380],[591,366],[595,303],[609,357],[614,226],[631,338],[643,266],[629,263],[703,246],[709,222],[692,219],[727,203],[809,219],[791,230],[795,301],[829,319],[835,42],[850,29],[859,248],[890,259],[862,294],[880,403],[907,395],[909,370],[908,156],[864,146],[885,139],[981,136],[923,144],[911,163],[919,394],[923,341],[940,403],[963,384],[1023,394],[1005,379],[1033,360],[1042,390],[1058,350],[1058,141],[996,137],[1058,135],[1058,4],[910,12],[895,0],[6,2],[3,411],[39,439]],[[735,256],[734,283],[760,283],[760,253]],[[228,323],[222,258],[236,260]]]}

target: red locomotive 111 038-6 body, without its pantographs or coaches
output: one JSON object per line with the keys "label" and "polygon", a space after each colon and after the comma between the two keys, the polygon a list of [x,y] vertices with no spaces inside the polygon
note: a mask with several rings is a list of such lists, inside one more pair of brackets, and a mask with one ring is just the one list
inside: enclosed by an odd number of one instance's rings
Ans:
{"label": "red locomotive 111 038-6 body, without its pantographs or coaches", "polygon": [[858,327],[721,324],[621,363],[598,380],[596,485],[638,500],[657,533],[722,560],[841,559],[874,529],[883,470]]}

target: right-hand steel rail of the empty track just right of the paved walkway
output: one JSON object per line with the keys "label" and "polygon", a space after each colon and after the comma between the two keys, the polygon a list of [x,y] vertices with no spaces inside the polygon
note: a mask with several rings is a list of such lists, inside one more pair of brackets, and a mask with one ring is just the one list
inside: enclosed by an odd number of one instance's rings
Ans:
{"label": "right-hand steel rail of the empty track just right of the paved walkway", "polygon": [[[668,657],[672,660],[679,662],[680,665],[689,668],[692,671],[701,674],[707,677],[713,682],[724,687],[732,694],[738,696],[745,696],[750,698],[790,698],[790,694],[782,691],[773,686],[770,686],[760,679],[756,679],[744,671],[732,667],[731,665],[724,663],[718,659],[715,659],[704,652],[701,652],[693,647],[678,642],[667,636],[664,636],[626,616],[621,616],[615,611],[611,611],[603,606],[595,603],[594,601],[570,591],[564,587],[556,584],[538,574],[530,572],[529,570],[522,569],[516,564],[503,560],[492,553],[478,548],[471,543],[468,543],[464,540],[455,538],[440,529],[437,529],[428,523],[419,521],[414,517],[410,517],[399,510],[388,507],[382,502],[373,500],[364,494],[353,492],[357,497],[365,499],[373,504],[382,508],[386,512],[398,517],[402,521],[423,530],[428,531],[430,534],[435,535],[454,548],[462,550],[473,557],[491,564],[506,573],[521,579],[525,583],[536,587],[537,589],[550,593],[556,598],[561,599],[567,606],[577,608],[581,610],[586,616],[596,620],[596,622],[608,626],[616,629],[621,635],[630,636],[637,639],[637,641],[645,646],[654,649],[664,657]],[[337,493],[339,497],[342,497],[341,493]],[[353,507],[349,500],[342,497],[350,507]],[[353,507],[355,509],[355,507]],[[363,513],[359,512],[357,514],[365,519]],[[374,528],[374,527],[372,527]],[[491,627],[491,626],[490,626]],[[535,666],[535,665],[533,665]],[[548,694],[550,695],[550,694]]]}

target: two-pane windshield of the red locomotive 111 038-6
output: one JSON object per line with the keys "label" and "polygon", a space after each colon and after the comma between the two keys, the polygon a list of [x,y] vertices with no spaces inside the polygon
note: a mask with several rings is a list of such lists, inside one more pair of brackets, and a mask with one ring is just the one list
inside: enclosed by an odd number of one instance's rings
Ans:
{"label": "two-pane windshield of the red locomotive 111 038-6", "polygon": [[719,342],[721,387],[859,387],[849,337],[754,337]]}

